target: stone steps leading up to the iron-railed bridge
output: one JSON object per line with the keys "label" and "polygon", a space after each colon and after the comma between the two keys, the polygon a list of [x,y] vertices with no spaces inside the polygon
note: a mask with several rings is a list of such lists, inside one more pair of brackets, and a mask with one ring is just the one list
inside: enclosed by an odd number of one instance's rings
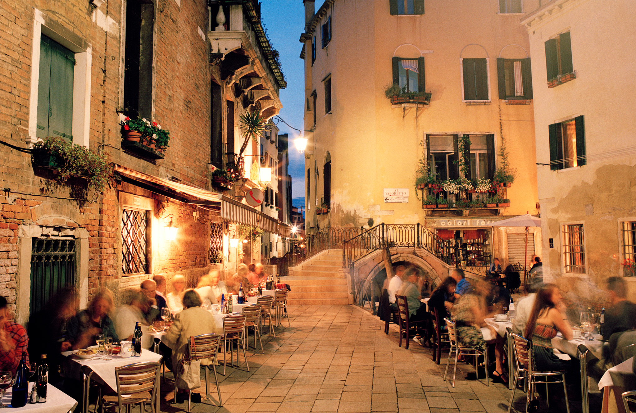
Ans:
{"label": "stone steps leading up to the iron-railed bridge", "polygon": [[291,287],[287,304],[349,304],[342,249],[327,249],[289,267],[289,277],[281,277],[280,281]]}

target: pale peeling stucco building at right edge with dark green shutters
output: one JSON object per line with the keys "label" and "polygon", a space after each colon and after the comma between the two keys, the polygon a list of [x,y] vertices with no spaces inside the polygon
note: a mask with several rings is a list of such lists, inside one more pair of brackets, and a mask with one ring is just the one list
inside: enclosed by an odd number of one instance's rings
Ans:
{"label": "pale peeling stucco building at right edge with dark green shutters", "polygon": [[633,301],[636,3],[553,0],[522,24],[530,36],[544,277],[567,290],[624,276]]}

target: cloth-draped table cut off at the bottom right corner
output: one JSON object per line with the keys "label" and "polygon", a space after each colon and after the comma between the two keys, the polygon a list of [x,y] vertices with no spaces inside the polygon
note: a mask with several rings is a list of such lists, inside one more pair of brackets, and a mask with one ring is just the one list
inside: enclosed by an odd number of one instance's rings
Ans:
{"label": "cloth-draped table cut off at the bottom right corner", "polygon": [[598,389],[603,391],[601,413],[625,412],[621,394],[636,388],[634,363],[634,358],[631,357],[609,368],[598,381]]}

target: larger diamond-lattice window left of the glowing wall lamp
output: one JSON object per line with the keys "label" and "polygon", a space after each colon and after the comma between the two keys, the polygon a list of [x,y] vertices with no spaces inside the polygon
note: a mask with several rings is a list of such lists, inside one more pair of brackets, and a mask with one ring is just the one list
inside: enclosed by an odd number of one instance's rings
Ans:
{"label": "larger diamond-lattice window left of the glowing wall lamp", "polygon": [[148,214],[124,208],[121,213],[121,270],[123,274],[148,272]]}

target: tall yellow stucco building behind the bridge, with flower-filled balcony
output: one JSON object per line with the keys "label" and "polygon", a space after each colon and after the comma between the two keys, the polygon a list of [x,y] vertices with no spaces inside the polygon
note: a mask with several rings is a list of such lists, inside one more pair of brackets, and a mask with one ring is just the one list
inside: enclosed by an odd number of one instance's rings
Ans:
{"label": "tall yellow stucco building behind the bridge, with flower-filled balcony", "polygon": [[[420,223],[467,245],[468,267],[495,256],[523,266],[525,228],[492,224],[540,212],[520,24],[538,7],[327,0],[314,13],[305,0],[308,233]],[[417,178],[439,186],[416,189]],[[542,242],[541,228],[529,232],[528,258]]]}

